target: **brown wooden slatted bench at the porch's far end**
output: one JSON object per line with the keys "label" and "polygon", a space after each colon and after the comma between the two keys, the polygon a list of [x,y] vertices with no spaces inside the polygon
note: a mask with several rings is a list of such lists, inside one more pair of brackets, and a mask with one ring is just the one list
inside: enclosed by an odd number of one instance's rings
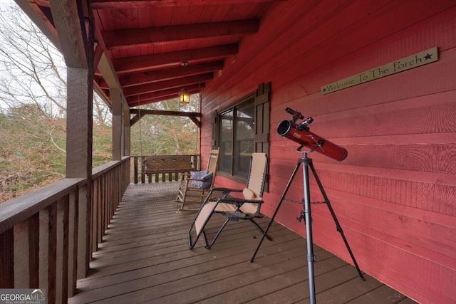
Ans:
{"label": "brown wooden slatted bench at the porch's far end", "polygon": [[[152,174],[155,174],[155,182],[179,180],[179,173],[196,171],[197,164],[194,155],[157,155],[145,157],[144,171],[147,174],[149,182],[152,181]],[[173,177],[174,175],[174,177]]]}

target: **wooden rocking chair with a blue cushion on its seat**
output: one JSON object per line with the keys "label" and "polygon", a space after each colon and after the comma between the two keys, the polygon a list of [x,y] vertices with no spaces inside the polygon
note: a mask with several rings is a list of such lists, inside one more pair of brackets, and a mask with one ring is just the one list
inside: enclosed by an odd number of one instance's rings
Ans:
{"label": "wooden rocking chair with a blue cushion on its seat", "polygon": [[[181,210],[199,210],[204,198],[214,185],[215,172],[219,161],[219,148],[211,150],[207,169],[182,174],[179,190],[177,190],[176,201],[179,201]],[[196,209],[185,209],[185,204],[198,204]]]}

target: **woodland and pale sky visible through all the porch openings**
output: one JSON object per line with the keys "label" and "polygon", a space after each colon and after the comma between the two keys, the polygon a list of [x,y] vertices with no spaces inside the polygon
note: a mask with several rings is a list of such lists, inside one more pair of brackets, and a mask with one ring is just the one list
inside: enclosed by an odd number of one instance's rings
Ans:
{"label": "woodland and pale sky visible through all the porch openings", "polygon": [[[141,106],[199,111],[177,98]],[[93,167],[112,158],[110,108],[94,93]],[[193,154],[198,128],[187,117],[146,115],[131,128],[131,154]],[[0,202],[65,177],[66,66],[16,4],[0,8]]]}

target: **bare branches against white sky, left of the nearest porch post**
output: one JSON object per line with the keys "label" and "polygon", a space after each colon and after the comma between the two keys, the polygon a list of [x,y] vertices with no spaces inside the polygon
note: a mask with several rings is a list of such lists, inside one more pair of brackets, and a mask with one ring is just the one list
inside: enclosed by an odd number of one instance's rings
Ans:
{"label": "bare branches against white sky, left of the nearest porch post", "polygon": [[66,109],[66,67],[46,36],[15,6],[0,14],[0,96],[2,107],[33,103],[43,116]]}

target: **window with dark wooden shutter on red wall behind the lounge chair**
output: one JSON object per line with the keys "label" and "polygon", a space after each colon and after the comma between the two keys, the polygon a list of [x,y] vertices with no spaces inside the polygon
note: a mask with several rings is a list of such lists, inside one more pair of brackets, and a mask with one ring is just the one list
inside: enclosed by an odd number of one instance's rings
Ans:
{"label": "window with dark wooden shutter on red wall behind the lounge chair", "polygon": [[245,181],[253,152],[269,152],[269,88],[259,89],[215,112],[212,145],[220,147],[218,172]]}

